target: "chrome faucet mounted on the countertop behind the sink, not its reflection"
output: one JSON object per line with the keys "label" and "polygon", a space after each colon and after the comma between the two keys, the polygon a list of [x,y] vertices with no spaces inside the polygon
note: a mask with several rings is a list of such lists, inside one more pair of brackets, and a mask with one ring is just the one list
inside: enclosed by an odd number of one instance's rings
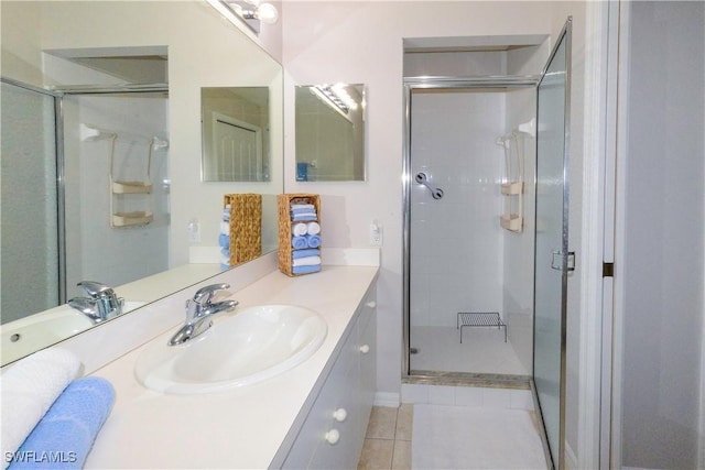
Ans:
{"label": "chrome faucet mounted on the countertop behind the sink, not its reflection", "polygon": [[213,297],[229,288],[230,284],[213,284],[199,288],[194,298],[186,300],[186,323],[172,336],[169,346],[183,345],[194,339],[213,326],[213,316],[224,310],[231,310],[237,305],[237,300],[224,300],[213,303]]}

